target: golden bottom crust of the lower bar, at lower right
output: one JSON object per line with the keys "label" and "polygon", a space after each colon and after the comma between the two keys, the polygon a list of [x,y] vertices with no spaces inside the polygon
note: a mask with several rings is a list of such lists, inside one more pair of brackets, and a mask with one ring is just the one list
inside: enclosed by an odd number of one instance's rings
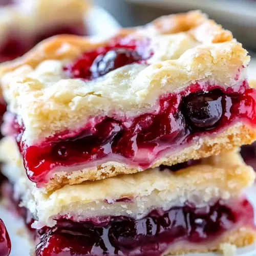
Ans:
{"label": "golden bottom crust of the lower bar, at lower right", "polygon": [[[240,227],[236,230],[230,230],[226,232],[224,236],[220,239],[217,239],[216,242],[213,242],[211,245],[191,245],[181,244],[174,249],[170,249],[163,255],[180,255],[186,253],[200,253],[200,252],[210,252],[210,251],[220,251],[224,256],[233,256],[234,254],[228,254],[225,246],[235,245],[237,247],[247,246],[254,243],[256,239],[256,231],[252,227]],[[201,247],[201,248],[200,248]]]}

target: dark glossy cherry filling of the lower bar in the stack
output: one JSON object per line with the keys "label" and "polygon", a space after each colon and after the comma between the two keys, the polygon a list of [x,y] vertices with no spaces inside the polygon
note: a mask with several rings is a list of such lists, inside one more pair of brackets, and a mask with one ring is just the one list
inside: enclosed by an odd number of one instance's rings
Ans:
{"label": "dark glossy cherry filling of the lower bar in the stack", "polygon": [[177,241],[210,243],[241,220],[253,225],[250,203],[243,200],[238,205],[234,210],[222,201],[202,208],[187,203],[153,210],[141,220],[119,216],[98,225],[59,220],[55,227],[39,230],[35,255],[159,256]]}

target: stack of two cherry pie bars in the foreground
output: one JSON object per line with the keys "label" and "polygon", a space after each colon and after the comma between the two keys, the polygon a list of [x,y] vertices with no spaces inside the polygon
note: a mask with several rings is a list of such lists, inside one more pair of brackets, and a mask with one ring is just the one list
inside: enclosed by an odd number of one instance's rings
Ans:
{"label": "stack of two cherry pie bars in the foreground", "polygon": [[242,190],[255,174],[238,149],[256,139],[248,62],[231,32],[189,12],[105,40],[52,37],[3,64],[6,194],[35,255],[253,243]]}

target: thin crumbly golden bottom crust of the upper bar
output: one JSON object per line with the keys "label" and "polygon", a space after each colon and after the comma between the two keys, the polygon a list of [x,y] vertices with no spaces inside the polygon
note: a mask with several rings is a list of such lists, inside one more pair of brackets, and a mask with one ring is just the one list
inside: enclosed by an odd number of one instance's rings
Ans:
{"label": "thin crumbly golden bottom crust of the upper bar", "polygon": [[[256,133],[249,125],[238,123],[221,132],[216,137],[202,138],[199,142],[183,148],[166,158],[160,158],[152,167],[161,164],[173,165],[190,159],[200,159],[216,156],[221,152],[227,152],[234,147],[251,144],[256,140]],[[105,163],[91,168],[84,168],[73,173],[58,172],[45,185],[46,191],[63,187],[66,184],[79,184],[86,180],[101,180],[120,174],[134,174],[142,169],[131,168],[117,162]]]}

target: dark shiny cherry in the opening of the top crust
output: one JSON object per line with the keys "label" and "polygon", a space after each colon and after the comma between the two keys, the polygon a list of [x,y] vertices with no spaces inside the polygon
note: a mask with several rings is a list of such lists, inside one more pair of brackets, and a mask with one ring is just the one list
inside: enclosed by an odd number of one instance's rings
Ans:
{"label": "dark shiny cherry in the opening of the top crust", "polygon": [[141,59],[137,51],[125,48],[116,48],[98,55],[91,66],[93,78],[103,76],[112,70],[131,64]]}

